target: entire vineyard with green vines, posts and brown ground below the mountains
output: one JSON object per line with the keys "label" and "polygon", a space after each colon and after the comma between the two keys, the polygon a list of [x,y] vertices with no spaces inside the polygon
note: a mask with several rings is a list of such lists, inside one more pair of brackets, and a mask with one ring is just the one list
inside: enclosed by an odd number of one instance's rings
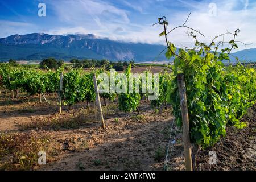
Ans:
{"label": "entire vineyard with green vines, posts and brown ground below the mountains", "polygon": [[[136,80],[132,93],[98,95],[98,77],[104,73],[111,78],[105,67],[67,71],[64,66],[41,70],[0,64],[0,169],[183,170],[188,169],[186,150],[192,152],[194,170],[209,169],[204,152],[216,145],[221,165],[210,169],[255,169],[255,150],[249,149],[255,148],[255,68],[238,60],[236,65],[223,63],[238,48],[239,30],[229,33],[229,48],[220,49],[220,36],[207,45],[190,32],[195,48],[177,49],[167,40],[166,18],[159,18],[158,24],[164,28],[160,36],[166,39],[166,57],[174,59],[173,64],[168,72],[159,70],[159,84]],[[132,69],[134,65],[127,65],[123,75],[129,77]],[[143,73],[151,73],[151,67]],[[122,82],[122,89],[130,86],[117,72],[114,80]],[[135,92],[135,85],[142,90],[149,82],[152,88],[147,91],[158,88],[154,100],[149,91]],[[238,143],[232,145],[234,134]],[[239,134],[249,137],[250,146],[241,147]],[[230,136],[231,142],[225,139]],[[222,151],[232,147],[235,159],[224,156],[228,149]],[[39,151],[46,153],[45,165],[37,163]]]}

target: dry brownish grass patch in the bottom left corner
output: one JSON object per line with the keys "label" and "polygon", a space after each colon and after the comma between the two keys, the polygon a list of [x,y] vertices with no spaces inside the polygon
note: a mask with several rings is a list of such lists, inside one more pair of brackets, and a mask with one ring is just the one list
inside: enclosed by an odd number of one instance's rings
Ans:
{"label": "dry brownish grass patch in the bottom left corner", "polygon": [[0,169],[28,170],[38,166],[38,152],[48,151],[49,137],[44,133],[0,133]]}

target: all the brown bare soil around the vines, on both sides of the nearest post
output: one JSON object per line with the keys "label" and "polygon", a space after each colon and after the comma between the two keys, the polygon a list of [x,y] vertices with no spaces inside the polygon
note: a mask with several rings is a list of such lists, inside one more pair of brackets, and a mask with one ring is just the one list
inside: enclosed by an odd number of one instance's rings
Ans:
{"label": "all the brown bare soil around the vines, on both sides of the nearest post", "polygon": [[[42,133],[51,137],[52,155],[44,166],[34,170],[163,170],[166,159],[171,107],[154,110],[150,102],[141,101],[139,116],[122,113],[116,102],[108,102],[103,108],[106,129],[101,129],[94,104],[86,109],[86,103],[73,106],[72,111],[63,108],[56,114],[55,94],[47,94],[49,104],[39,102],[39,96],[28,100],[26,95],[11,100],[9,94],[0,96],[0,132]],[[255,170],[255,106],[243,117],[250,124],[246,129],[228,128],[212,148],[200,151],[198,170]],[[54,121],[54,122],[53,122]],[[62,127],[60,122],[79,123]],[[36,125],[35,125],[36,123]],[[54,123],[53,127],[51,123]],[[209,151],[216,151],[217,164],[210,165]],[[1,161],[0,161],[1,162]],[[178,130],[168,170],[184,170],[184,152],[181,131]]]}

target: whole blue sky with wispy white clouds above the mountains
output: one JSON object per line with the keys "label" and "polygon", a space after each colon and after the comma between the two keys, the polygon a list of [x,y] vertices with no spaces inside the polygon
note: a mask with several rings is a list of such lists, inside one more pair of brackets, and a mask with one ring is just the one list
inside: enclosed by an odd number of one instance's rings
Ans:
{"label": "whole blue sky with wispy white clouds above the mountains", "polygon": [[[46,4],[46,17],[38,16],[38,4]],[[166,16],[169,29],[183,24],[200,30],[210,42],[215,35],[240,28],[238,40],[247,48],[256,47],[255,0],[0,0],[0,37],[44,32],[47,34],[95,34],[113,40],[164,44],[160,26],[152,26]],[[187,28],[170,34],[176,46],[191,47]],[[222,38],[221,38],[222,39]],[[225,41],[231,38],[226,36]],[[251,44],[252,43],[252,44]],[[240,49],[246,47],[242,44]]]}

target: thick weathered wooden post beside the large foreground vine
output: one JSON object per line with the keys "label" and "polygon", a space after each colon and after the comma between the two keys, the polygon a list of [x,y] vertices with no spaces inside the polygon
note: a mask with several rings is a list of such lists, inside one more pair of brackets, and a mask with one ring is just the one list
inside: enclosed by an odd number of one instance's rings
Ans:
{"label": "thick weathered wooden post beside the large foreground vine", "polygon": [[185,152],[185,167],[187,171],[192,171],[192,160],[191,160],[191,143],[189,135],[189,121],[188,121],[188,104],[186,96],[186,88],[184,75],[177,75],[177,82],[179,86],[179,96],[181,105],[182,125],[183,125],[183,141],[184,141],[184,152]]}

